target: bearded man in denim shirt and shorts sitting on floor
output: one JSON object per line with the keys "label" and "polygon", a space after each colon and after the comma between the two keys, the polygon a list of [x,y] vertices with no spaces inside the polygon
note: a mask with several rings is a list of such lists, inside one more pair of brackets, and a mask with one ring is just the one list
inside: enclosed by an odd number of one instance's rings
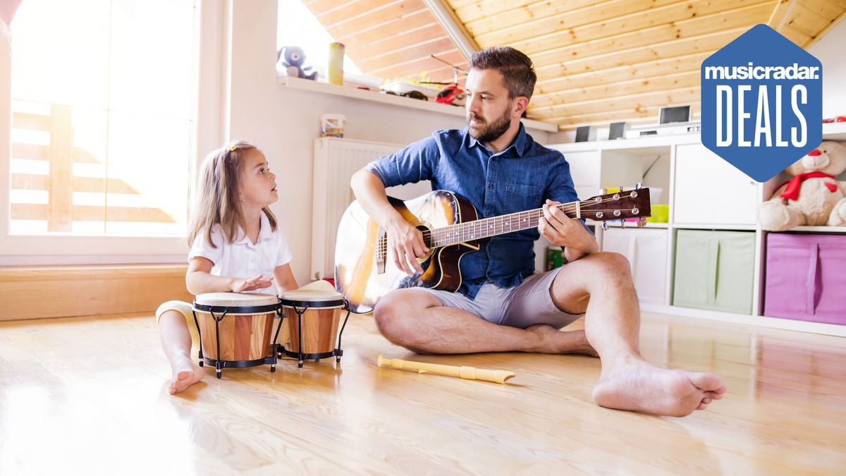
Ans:
{"label": "bearded man in denim shirt and shorts sitting on floor", "polygon": [[[510,47],[473,54],[464,130],[440,130],[354,174],[351,185],[387,232],[389,256],[409,275],[428,249],[420,230],[387,202],[385,187],[431,180],[473,203],[481,217],[543,208],[538,228],[492,237],[460,262],[458,292],[398,289],[376,304],[382,335],[420,353],[587,353],[602,359],[593,398],[602,407],[684,416],[725,392],[716,374],[657,368],[639,352],[640,312],[629,263],[598,252],[583,223],[554,208],[577,200],[560,152],[525,133],[536,75]],[[563,246],[567,264],[533,274],[539,233]],[[592,299],[591,296],[602,296]],[[585,330],[559,331],[585,315]]]}

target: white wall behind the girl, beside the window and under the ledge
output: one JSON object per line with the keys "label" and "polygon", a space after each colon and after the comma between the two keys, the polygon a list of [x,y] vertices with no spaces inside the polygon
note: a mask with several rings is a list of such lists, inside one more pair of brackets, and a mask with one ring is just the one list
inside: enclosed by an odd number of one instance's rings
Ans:
{"label": "white wall behind the girl, beside the window and under the ledge", "polygon": [[[254,142],[277,174],[281,193],[272,210],[294,252],[294,275],[305,283],[311,256],[312,147],[320,136],[321,113],[346,116],[344,138],[397,144],[418,141],[434,130],[460,129],[464,119],[279,86],[275,69],[277,2],[233,2],[231,14],[233,54],[226,135]],[[547,132],[530,130],[530,134],[547,143]]]}

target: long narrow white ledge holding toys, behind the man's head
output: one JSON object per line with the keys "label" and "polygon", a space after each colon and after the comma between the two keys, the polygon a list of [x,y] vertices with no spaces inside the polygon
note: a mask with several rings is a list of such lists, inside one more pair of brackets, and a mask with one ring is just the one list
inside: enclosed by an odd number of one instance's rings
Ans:
{"label": "long narrow white ledge holding toys, behind the man's head", "polygon": [[[410,97],[382,94],[381,92],[367,91],[353,86],[331,85],[320,81],[304,80],[302,78],[292,78],[290,76],[278,78],[277,83],[280,86],[292,87],[303,91],[314,91],[323,94],[333,94],[335,96],[352,97],[354,99],[361,99],[364,101],[382,102],[383,104],[392,104],[394,106],[404,108],[422,109],[433,113],[444,113],[464,117],[464,108],[457,108],[455,106],[448,106],[447,104],[439,104],[432,101],[420,101],[419,99],[412,99]],[[529,129],[558,132],[557,125],[547,124],[545,122],[532,119],[522,119],[522,122]]]}

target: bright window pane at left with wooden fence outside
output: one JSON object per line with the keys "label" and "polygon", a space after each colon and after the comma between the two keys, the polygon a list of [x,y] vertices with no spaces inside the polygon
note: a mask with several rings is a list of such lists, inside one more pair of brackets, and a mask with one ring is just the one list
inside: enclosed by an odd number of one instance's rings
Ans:
{"label": "bright window pane at left with wooden fence outside", "polygon": [[194,0],[27,0],[12,30],[9,235],[184,235]]}

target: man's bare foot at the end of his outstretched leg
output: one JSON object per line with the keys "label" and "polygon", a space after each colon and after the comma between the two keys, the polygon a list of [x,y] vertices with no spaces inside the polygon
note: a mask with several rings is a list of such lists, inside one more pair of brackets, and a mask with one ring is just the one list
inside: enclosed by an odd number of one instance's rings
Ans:
{"label": "man's bare foot at the end of his outstretched leg", "polygon": [[684,417],[704,410],[725,393],[717,374],[668,370],[634,360],[607,371],[603,368],[593,399],[601,407]]}

